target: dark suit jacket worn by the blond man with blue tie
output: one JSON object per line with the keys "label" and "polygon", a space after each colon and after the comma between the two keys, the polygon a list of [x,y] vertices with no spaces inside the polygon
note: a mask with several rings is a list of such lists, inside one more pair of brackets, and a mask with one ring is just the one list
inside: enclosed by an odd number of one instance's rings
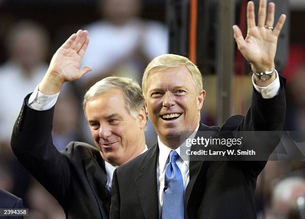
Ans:
{"label": "dark suit jacket worn by the blond man with blue tie", "polygon": [[[246,116],[230,117],[221,128],[199,125],[199,131],[282,130],[286,101],[263,99],[253,92]],[[119,167],[113,176],[111,219],[158,219],[157,144]],[[190,161],[185,191],[185,218],[255,219],[256,179],[266,161]],[[131,198],[132,197],[132,198]]]}

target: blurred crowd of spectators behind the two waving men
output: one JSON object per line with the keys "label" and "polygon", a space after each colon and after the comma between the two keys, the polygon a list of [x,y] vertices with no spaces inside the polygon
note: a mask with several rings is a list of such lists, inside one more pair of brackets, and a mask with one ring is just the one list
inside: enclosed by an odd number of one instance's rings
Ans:
{"label": "blurred crowd of spectators behind the two waving men", "polygon": [[[72,140],[93,144],[81,106],[90,86],[111,75],[132,77],[141,83],[148,61],[168,53],[167,27],[164,22],[140,16],[142,1],[100,0],[97,8],[101,15],[99,20],[75,28],[89,32],[90,44],[82,65],[91,66],[93,71],[75,83],[66,84],[61,91],[52,132],[58,150],[63,150]],[[3,27],[3,20],[1,22]],[[10,150],[14,121],[24,97],[45,74],[54,52],[50,51],[50,45],[54,42],[37,20],[17,20],[0,33],[6,47],[3,48],[6,57],[2,57],[4,62],[0,66],[0,188],[23,199],[24,206],[30,209],[29,219],[64,219],[55,199],[23,169]],[[65,37],[60,39],[64,40]],[[283,72],[287,78],[286,130],[305,130],[304,45],[291,45],[288,66]],[[204,114],[202,117],[215,122]],[[156,142],[150,123],[146,137],[149,146]],[[258,217],[298,219],[300,213],[305,217],[304,202],[305,162],[269,161],[258,179]]]}

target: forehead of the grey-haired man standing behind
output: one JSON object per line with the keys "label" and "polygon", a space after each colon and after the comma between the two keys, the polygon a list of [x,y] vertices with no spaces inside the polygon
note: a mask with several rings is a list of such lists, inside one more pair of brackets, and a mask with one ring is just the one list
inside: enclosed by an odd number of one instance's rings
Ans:
{"label": "forehead of the grey-haired man standing behind", "polygon": [[110,89],[90,99],[86,103],[87,119],[106,118],[112,114],[127,116],[126,102],[121,89]]}

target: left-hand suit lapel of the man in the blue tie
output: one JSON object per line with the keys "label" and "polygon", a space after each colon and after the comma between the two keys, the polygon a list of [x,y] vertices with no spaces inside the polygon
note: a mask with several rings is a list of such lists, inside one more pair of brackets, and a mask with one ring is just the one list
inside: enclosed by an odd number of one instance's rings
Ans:
{"label": "left-hand suit lapel of the man in the blue tie", "polygon": [[156,166],[158,145],[155,144],[139,165],[140,175],[135,179],[143,213],[146,219],[158,219],[158,192]]}

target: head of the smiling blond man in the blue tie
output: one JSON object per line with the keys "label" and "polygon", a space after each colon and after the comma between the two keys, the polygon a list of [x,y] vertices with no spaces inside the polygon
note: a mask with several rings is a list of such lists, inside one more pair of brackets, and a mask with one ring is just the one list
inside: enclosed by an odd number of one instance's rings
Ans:
{"label": "head of the smiling blond man in the blue tie", "polygon": [[[170,65],[166,66],[166,62]],[[174,65],[176,67],[171,67]],[[146,108],[158,137],[165,145],[177,147],[181,131],[195,130],[200,121],[205,91],[199,70],[181,56],[156,57],[144,74],[143,89]]]}

